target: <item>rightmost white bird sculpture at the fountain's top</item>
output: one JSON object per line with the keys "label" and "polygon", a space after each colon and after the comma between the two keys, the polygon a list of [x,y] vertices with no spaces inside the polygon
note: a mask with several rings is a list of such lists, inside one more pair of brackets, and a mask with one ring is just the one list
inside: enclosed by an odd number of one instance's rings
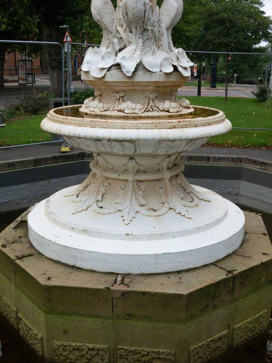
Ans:
{"label": "rightmost white bird sculpture at the fountain's top", "polygon": [[166,29],[170,52],[174,52],[175,49],[171,37],[172,29],[181,20],[182,13],[183,0],[164,0],[160,7],[159,17]]}

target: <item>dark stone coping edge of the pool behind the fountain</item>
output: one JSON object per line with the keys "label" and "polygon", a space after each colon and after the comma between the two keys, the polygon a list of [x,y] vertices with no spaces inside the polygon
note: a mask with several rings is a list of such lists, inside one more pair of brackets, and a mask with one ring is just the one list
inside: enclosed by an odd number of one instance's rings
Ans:
{"label": "dark stone coping edge of the pool behind the fountain", "polygon": [[[8,160],[0,162],[0,172],[33,168],[51,164],[68,163],[79,160],[93,160],[93,155],[89,151],[75,151],[68,154]],[[181,156],[181,162],[185,164],[203,163],[246,166],[272,172],[271,162],[250,156],[183,154]]]}

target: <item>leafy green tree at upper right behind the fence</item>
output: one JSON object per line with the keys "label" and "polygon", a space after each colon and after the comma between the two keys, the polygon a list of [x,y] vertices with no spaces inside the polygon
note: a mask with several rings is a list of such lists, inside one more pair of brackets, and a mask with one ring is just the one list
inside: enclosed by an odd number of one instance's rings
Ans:
{"label": "leafy green tree at upper right behind the fence", "polygon": [[187,50],[250,52],[271,39],[272,19],[263,6],[261,0],[187,0],[173,29],[174,44]]}

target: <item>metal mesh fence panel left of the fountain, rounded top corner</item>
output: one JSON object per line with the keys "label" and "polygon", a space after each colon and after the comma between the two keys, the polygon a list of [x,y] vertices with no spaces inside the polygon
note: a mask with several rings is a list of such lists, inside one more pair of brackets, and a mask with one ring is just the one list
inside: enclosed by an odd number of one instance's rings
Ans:
{"label": "metal mesh fence panel left of the fountain, rounded top corner", "polygon": [[[2,129],[2,145],[8,143],[9,136],[17,143],[25,143],[25,139],[29,143],[40,139],[39,122],[25,125],[25,116],[45,115],[50,98],[58,97],[64,105],[64,74],[64,48],[61,44],[0,41],[0,112],[5,123],[16,120],[12,128]],[[47,139],[45,134],[44,141]]]}

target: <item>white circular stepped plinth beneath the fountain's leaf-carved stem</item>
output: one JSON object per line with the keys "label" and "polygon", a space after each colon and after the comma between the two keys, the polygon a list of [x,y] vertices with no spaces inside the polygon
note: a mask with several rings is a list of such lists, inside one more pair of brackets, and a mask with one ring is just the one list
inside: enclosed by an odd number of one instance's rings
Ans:
{"label": "white circular stepped plinth beneath the fountain's leaf-carved stem", "polygon": [[[65,195],[41,201],[28,216],[29,238],[45,256],[67,265],[100,272],[162,273],[191,269],[220,260],[236,250],[244,234],[244,214],[230,201],[195,187],[210,199],[191,208],[191,219],[169,210],[162,216],[141,213],[124,225],[120,212],[73,214]],[[88,226],[88,228],[86,228]]]}

